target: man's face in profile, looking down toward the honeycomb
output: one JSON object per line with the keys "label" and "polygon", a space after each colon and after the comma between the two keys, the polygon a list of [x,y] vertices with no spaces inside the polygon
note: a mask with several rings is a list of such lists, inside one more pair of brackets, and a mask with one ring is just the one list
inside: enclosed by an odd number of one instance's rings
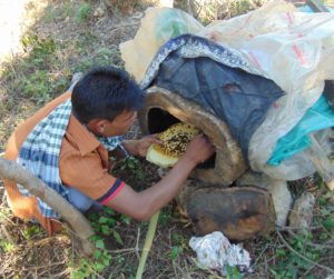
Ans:
{"label": "man's face in profile, looking down toward the honeycomb", "polygon": [[137,111],[124,111],[114,120],[108,121],[102,136],[112,137],[125,134],[137,119]]}

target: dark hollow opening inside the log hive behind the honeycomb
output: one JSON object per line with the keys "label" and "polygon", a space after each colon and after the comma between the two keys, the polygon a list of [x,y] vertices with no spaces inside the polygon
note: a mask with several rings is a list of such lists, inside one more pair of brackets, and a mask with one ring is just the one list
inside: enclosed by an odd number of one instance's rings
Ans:
{"label": "dark hollow opening inside the log hive behind the honeycomb", "polygon": [[[147,126],[149,133],[159,133],[168,129],[170,126],[180,122],[179,119],[160,108],[151,108],[147,116]],[[206,162],[197,166],[199,169],[215,168],[216,155],[213,155]]]}

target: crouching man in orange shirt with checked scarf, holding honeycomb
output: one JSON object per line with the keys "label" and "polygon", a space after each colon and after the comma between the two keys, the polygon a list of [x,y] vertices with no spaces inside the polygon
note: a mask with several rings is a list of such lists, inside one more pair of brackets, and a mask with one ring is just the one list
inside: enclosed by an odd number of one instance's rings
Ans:
{"label": "crouching man in orange shirt with checked scarf, holding honeycomb", "polygon": [[[46,104],[8,141],[6,158],[33,172],[81,211],[98,202],[137,220],[148,220],[170,201],[197,163],[214,152],[203,134],[159,182],[136,192],[108,173],[108,151],[145,157],[154,136],[124,140],[143,92],[129,76],[112,67],[88,72],[73,88]],[[21,186],[3,180],[14,215],[38,220],[51,235],[60,229],[57,212]]]}

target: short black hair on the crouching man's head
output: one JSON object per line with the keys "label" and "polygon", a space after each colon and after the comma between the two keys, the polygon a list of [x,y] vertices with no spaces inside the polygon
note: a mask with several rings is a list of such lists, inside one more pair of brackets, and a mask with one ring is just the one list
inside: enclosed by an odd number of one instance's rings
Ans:
{"label": "short black hair on the crouching man's head", "polygon": [[87,124],[92,119],[112,120],[124,111],[143,107],[144,93],[129,74],[115,67],[90,70],[72,90],[72,112]]}

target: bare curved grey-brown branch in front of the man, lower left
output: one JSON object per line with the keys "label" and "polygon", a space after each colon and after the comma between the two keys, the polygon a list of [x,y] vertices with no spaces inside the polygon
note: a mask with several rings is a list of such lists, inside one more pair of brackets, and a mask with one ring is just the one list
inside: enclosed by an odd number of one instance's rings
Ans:
{"label": "bare curved grey-brown branch in front of the man, lower left", "polygon": [[81,245],[81,252],[90,256],[94,251],[92,243],[88,238],[94,235],[94,230],[87,219],[73,208],[58,192],[49,188],[43,181],[35,177],[14,161],[0,158],[0,178],[6,178],[27,188],[31,195],[53,208],[71,227]]}

